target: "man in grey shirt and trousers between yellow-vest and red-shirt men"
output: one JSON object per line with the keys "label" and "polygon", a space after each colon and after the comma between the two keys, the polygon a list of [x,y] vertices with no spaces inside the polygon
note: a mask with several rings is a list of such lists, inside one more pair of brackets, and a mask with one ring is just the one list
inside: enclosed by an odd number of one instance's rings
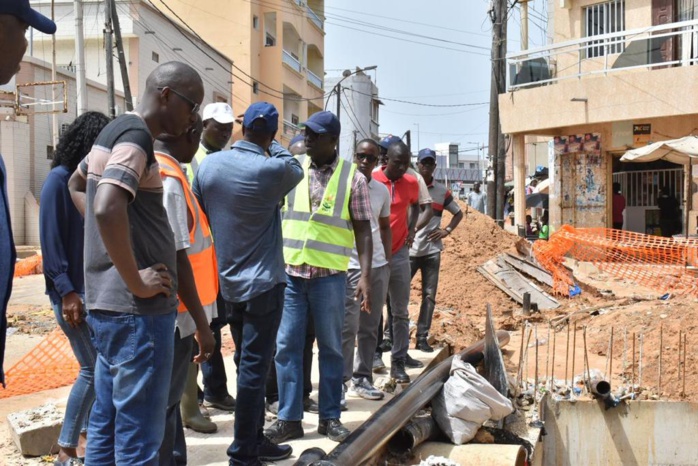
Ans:
{"label": "man in grey shirt and trousers between yellow-vest and red-shirt men", "polygon": [[[388,294],[392,232],[390,230],[390,193],[385,185],[372,179],[378,163],[379,146],[373,139],[364,139],[356,146],[354,163],[368,180],[371,199],[371,234],[373,259],[371,261],[371,308],[361,312],[361,303],[354,299],[356,285],[361,276],[359,255],[352,251],[347,272],[347,291],[344,300],[344,329],[342,352],[344,354],[344,383],[350,383],[348,395],[367,400],[383,399],[383,392],[373,386],[373,357],[378,340],[383,305]],[[356,357],[354,349],[356,347]],[[346,400],[342,400],[346,405]]]}

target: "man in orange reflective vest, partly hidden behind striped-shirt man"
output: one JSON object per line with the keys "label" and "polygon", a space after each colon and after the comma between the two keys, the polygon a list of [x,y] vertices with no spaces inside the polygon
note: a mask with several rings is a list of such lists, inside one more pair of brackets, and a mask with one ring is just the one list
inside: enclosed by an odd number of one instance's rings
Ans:
{"label": "man in orange reflective vest, partly hidden behind striped-shirt man", "polygon": [[[160,446],[161,466],[187,462],[179,405],[190,370],[194,338],[199,342],[194,364],[208,359],[216,344],[210,323],[217,312],[218,267],[211,229],[181,167],[181,164],[189,163],[196,153],[202,127],[201,117],[197,115],[196,122],[184,134],[160,134],[154,147],[162,177],[167,219],[174,233],[179,278],[172,377],[167,397],[165,434]],[[193,408],[200,414],[197,403],[193,404]]]}

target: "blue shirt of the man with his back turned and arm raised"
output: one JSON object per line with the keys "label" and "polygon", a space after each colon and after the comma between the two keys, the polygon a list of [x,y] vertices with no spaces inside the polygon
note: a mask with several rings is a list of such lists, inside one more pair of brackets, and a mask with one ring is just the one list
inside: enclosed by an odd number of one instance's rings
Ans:
{"label": "blue shirt of the man with his back turned and arm raised", "polygon": [[226,301],[249,301],[286,282],[279,206],[303,179],[303,167],[276,142],[269,151],[271,157],[237,141],[231,150],[207,155],[194,178]]}

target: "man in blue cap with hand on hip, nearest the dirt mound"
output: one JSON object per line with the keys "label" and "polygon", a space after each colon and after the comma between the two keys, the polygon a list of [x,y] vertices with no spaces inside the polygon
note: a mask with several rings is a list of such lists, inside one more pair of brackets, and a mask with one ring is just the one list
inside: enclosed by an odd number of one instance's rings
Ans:
{"label": "man in blue cap with hand on hip, nearest the dirt mound", "polygon": [[[456,229],[463,219],[463,212],[461,212],[458,202],[453,199],[451,191],[434,179],[436,152],[431,149],[420,150],[417,156],[417,168],[429,187],[434,217],[424,229],[417,232],[414,243],[412,243],[410,248],[412,278],[414,278],[417,271],[421,271],[422,274],[422,303],[419,307],[417,344],[415,348],[431,353],[434,349],[429,345],[427,339],[436,306],[441,251],[444,248],[443,239]],[[450,212],[453,217],[446,228],[441,228],[441,218],[444,210]]]}

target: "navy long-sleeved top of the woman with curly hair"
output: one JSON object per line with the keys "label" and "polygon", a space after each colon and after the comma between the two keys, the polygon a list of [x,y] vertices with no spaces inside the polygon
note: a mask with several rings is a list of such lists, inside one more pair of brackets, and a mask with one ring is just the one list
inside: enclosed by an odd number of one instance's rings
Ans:
{"label": "navy long-sleeved top of the woman with curly hair", "polygon": [[71,173],[62,165],[48,174],[39,202],[39,235],[46,294],[60,303],[70,292],[84,293],[83,219],[68,191]]}

